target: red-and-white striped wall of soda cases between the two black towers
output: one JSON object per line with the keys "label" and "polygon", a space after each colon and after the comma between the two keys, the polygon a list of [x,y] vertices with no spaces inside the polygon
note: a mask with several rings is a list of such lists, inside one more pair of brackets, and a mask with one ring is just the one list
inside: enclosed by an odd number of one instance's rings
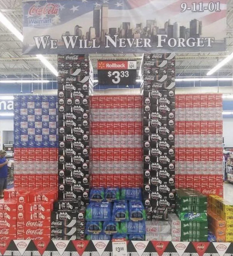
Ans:
{"label": "red-and-white striped wall of soda cases between the two black towers", "polygon": [[142,97],[91,97],[92,183],[142,187]]}

